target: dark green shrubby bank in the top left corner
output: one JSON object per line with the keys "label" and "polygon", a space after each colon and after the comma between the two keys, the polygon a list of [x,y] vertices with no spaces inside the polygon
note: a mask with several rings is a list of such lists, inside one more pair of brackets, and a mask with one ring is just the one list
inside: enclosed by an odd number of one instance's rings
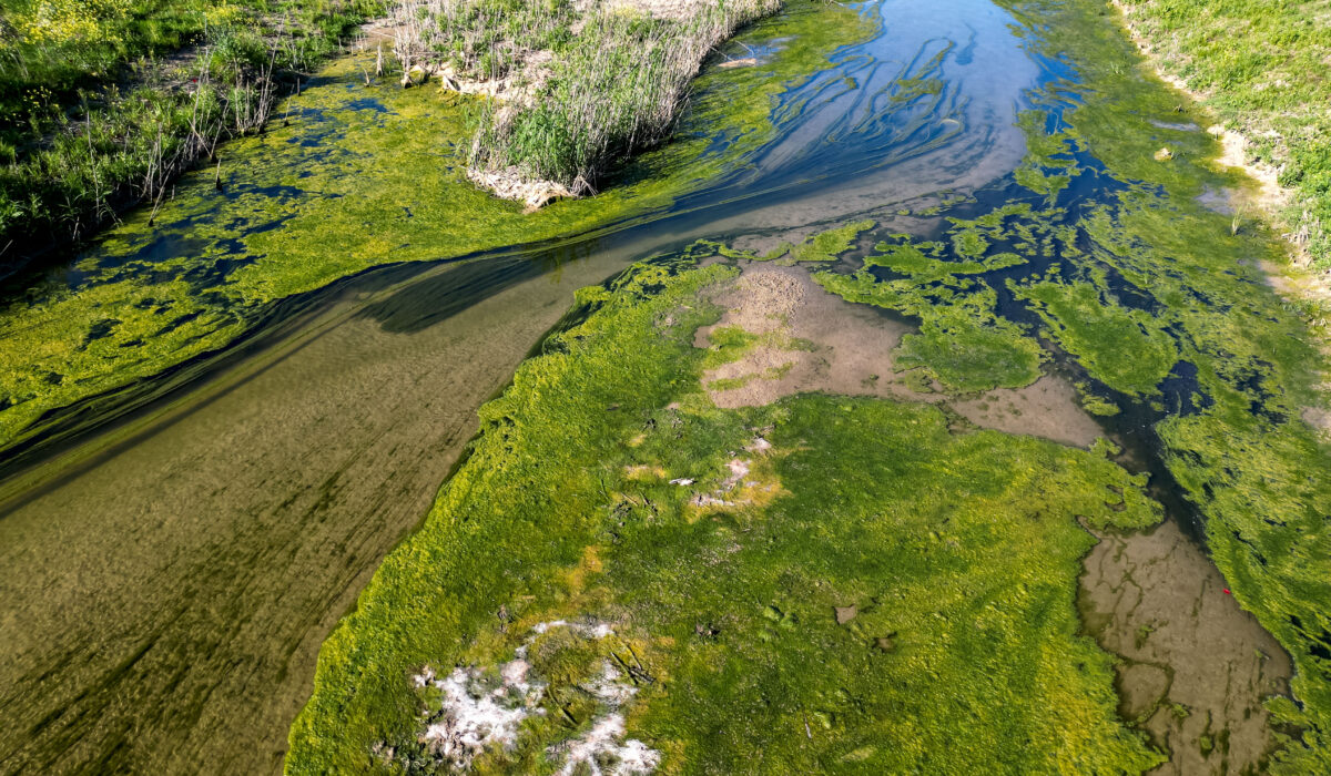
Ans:
{"label": "dark green shrubby bank in the top left corner", "polygon": [[379,0],[4,0],[0,268],[160,204]]}

